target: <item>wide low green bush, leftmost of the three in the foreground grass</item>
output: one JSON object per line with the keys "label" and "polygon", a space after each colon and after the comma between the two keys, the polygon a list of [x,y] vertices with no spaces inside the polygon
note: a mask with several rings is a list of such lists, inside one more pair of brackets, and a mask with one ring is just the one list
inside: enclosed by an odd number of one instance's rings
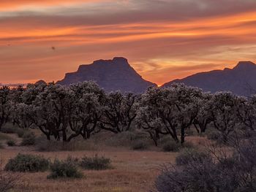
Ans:
{"label": "wide low green bush, leftmost of the three in the foreground grass", "polygon": [[5,166],[11,172],[44,172],[49,167],[49,160],[40,155],[18,154]]}

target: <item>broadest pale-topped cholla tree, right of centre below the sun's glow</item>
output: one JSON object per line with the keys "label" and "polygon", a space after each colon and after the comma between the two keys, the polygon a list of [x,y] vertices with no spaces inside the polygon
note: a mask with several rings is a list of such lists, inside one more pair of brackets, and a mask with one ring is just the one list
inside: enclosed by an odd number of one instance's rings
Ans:
{"label": "broadest pale-topped cholla tree, right of centre below the sun's glow", "polygon": [[143,94],[138,112],[138,126],[148,131],[157,145],[160,134],[169,134],[181,143],[185,131],[192,125],[200,110],[202,91],[184,84],[174,83],[169,88],[148,88]]}

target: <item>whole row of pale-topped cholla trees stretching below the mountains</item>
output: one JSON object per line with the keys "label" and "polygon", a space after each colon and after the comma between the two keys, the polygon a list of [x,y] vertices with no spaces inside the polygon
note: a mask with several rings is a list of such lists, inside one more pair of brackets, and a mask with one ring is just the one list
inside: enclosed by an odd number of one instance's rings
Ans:
{"label": "whole row of pale-topped cholla trees stretching below the mountains", "polygon": [[182,144],[191,128],[199,134],[214,128],[227,142],[237,130],[255,130],[256,96],[205,93],[176,83],[135,94],[107,93],[95,82],[67,87],[39,81],[26,88],[0,88],[0,131],[5,123],[38,128],[48,140],[63,142],[100,131],[141,129],[155,145],[164,135]]}

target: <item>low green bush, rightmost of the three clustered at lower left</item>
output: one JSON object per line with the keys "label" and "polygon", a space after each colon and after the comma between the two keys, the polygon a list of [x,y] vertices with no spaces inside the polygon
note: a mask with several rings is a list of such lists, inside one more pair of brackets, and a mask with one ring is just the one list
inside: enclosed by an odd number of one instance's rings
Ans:
{"label": "low green bush, rightmost of the three clustered at lower left", "polygon": [[80,161],[80,166],[83,169],[94,169],[94,170],[102,170],[102,169],[110,169],[110,158],[105,158],[104,156],[99,157],[98,155],[94,155],[94,157],[83,157]]}

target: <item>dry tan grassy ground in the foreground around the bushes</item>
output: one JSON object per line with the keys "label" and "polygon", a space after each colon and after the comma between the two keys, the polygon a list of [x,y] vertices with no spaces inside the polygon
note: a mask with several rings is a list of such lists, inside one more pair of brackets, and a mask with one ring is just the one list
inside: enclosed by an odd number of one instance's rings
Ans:
{"label": "dry tan grassy ground in the foreground around the bushes", "polygon": [[[10,134],[8,134],[10,135]],[[11,137],[15,137],[13,134]],[[18,138],[16,138],[18,139]],[[189,138],[201,143],[202,138]],[[104,171],[83,171],[85,177],[78,180],[48,180],[49,172],[22,174],[22,182],[15,191],[121,191],[143,192],[154,190],[154,180],[159,168],[175,161],[178,153],[165,153],[161,150],[135,151],[127,147],[97,147],[96,150],[38,152],[34,147],[8,147],[0,149],[4,164],[18,153],[43,155],[45,158],[64,159],[72,157],[104,155],[112,161],[113,169]],[[4,164],[2,166],[4,166]]]}

